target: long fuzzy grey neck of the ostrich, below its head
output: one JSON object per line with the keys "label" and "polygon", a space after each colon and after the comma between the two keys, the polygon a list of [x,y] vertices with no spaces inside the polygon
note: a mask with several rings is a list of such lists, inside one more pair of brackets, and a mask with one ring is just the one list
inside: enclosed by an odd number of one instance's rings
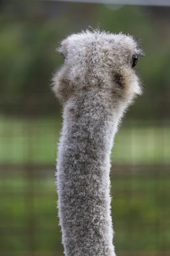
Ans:
{"label": "long fuzzy grey neck of the ostrich, below its head", "polygon": [[57,189],[66,256],[115,255],[109,172],[121,113],[113,105],[91,92],[64,107]]}

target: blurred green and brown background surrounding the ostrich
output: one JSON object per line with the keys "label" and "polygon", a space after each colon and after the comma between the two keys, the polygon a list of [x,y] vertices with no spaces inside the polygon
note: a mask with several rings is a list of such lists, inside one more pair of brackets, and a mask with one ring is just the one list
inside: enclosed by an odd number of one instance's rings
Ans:
{"label": "blurred green and brown background surrounding the ostrich", "polygon": [[88,26],[141,38],[144,93],[112,150],[117,255],[170,255],[170,7],[0,0],[0,255],[62,256],[54,172],[55,52]]}

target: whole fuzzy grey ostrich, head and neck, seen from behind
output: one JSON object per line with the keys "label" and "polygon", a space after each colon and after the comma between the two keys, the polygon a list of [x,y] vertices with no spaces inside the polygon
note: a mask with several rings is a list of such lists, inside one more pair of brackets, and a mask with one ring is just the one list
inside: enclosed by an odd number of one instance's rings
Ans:
{"label": "whole fuzzy grey ostrich, head and neck, seen from behind", "polygon": [[137,42],[93,30],[68,36],[53,78],[63,107],[57,156],[59,224],[65,256],[115,256],[110,154],[120,119],[141,94]]}

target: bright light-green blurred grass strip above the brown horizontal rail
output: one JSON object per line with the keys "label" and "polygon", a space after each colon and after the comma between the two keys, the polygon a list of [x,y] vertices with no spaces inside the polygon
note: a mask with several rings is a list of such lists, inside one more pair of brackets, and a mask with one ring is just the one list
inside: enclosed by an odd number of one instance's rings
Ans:
{"label": "bright light-green blurred grass strip above the brown horizontal rail", "polygon": [[[0,163],[54,163],[61,119],[0,117]],[[114,163],[169,163],[170,126],[122,125]]]}

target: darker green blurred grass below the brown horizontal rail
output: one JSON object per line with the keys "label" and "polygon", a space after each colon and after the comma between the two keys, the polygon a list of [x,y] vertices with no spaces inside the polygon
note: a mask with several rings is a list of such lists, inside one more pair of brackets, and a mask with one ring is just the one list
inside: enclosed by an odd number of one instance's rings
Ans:
{"label": "darker green blurred grass below the brown horizontal rail", "polygon": [[[170,178],[111,178],[116,252],[170,252]],[[1,181],[1,252],[62,254],[53,178]]]}

